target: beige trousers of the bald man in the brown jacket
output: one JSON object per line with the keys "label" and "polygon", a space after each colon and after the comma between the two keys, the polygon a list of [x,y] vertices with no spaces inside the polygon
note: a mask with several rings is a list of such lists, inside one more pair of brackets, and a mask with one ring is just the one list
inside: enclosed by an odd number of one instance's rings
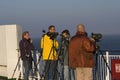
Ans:
{"label": "beige trousers of the bald man in the brown jacket", "polygon": [[92,68],[76,68],[77,80],[93,80]]}

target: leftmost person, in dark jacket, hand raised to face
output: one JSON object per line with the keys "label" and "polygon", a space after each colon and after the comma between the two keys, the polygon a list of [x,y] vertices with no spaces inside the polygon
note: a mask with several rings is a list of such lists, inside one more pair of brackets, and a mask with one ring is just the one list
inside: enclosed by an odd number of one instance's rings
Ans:
{"label": "leftmost person, in dark jacket, hand raised to face", "polygon": [[29,36],[29,32],[25,31],[22,34],[22,40],[19,42],[21,59],[23,61],[23,75],[24,80],[29,80],[29,73],[32,69],[32,54],[31,50],[34,50],[32,39]]}

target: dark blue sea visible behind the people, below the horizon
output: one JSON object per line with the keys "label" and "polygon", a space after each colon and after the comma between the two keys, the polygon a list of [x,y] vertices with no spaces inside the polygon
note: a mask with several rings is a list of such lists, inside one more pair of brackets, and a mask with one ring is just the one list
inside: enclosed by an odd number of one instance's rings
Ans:
{"label": "dark blue sea visible behind the people, below the horizon", "polygon": [[[59,36],[57,39],[60,42]],[[40,40],[41,38],[33,38],[36,49],[40,49]],[[120,54],[120,35],[102,35],[97,44],[102,51],[110,51],[110,54]]]}

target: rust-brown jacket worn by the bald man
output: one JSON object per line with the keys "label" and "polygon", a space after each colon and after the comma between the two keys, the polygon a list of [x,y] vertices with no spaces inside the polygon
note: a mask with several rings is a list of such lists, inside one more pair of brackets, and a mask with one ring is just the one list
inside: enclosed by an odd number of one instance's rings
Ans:
{"label": "rust-brown jacket worn by the bald man", "polygon": [[69,66],[93,67],[94,51],[95,43],[87,37],[87,34],[77,32],[69,44]]}

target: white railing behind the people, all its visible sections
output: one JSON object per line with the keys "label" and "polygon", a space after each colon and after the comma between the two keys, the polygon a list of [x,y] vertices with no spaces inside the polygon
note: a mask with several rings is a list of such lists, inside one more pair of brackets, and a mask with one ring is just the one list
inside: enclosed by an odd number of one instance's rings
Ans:
{"label": "white railing behind the people, all its visible sections", "polygon": [[[41,71],[40,69],[43,67],[43,65],[40,65],[39,60],[38,60],[39,56],[41,54],[38,51],[36,51],[35,53],[36,53],[36,59],[37,59],[36,63],[38,64],[37,68],[39,69],[39,71]],[[103,51],[103,54],[104,54],[103,56],[101,54],[98,54],[97,64],[95,64],[95,66],[97,66],[97,68],[95,67],[93,69],[94,80],[112,80],[111,61],[112,61],[112,59],[120,59],[120,55],[109,55],[110,53],[111,53],[111,51]],[[114,53],[114,51],[112,51],[112,54],[113,53]],[[119,53],[120,53],[120,51],[119,51]],[[21,60],[20,60],[19,65],[20,64],[21,64]],[[17,69],[19,69],[19,72],[15,72],[15,74],[21,73],[21,76],[18,75],[17,79],[19,79],[20,77],[23,78],[23,74],[22,74],[22,70],[20,69],[20,66],[17,67]],[[41,76],[39,73],[41,73],[41,72],[37,72],[37,78],[41,79]]]}

